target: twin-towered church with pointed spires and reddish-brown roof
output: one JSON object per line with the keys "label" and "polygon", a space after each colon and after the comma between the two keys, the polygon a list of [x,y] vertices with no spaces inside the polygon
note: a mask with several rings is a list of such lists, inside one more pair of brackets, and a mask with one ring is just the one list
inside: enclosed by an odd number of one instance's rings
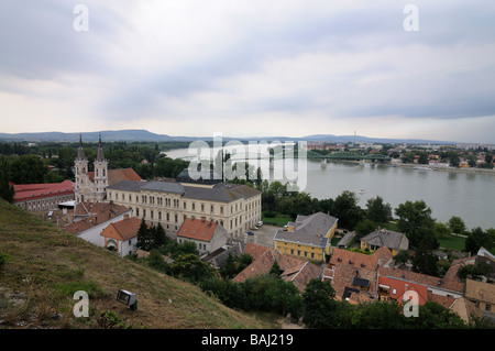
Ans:
{"label": "twin-towered church with pointed spires and reddish-brown roof", "polygon": [[98,141],[97,157],[94,171],[89,172],[88,158],[82,147],[82,136],[79,134],[79,149],[74,162],[75,200],[80,202],[101,202],[107,200],[107,187],[122,180],[142,180],[132,168],[108,169],[108,161],[103,155],[101,134]]}

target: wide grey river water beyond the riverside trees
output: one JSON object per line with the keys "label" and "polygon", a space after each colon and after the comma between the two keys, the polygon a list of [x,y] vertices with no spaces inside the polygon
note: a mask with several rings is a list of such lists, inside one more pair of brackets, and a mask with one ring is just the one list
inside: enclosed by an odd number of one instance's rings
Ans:
{"label": "wide grey river water beyond the riverside trees", "polygon": [[[172,158],[187,158],[188,150],[166,152]],[[216,155],[216,152],[212,152]],[[280,168],[275,162],[275,173]],[[253,163],[253,162],[251,162]],[[282,180],[268,176],[267,160],[254,161],[261,166],[264,178]],[[282,166],[283,167],[283,166]],[[420,171],[391,165],[373,165],[344,161],[328,161],[326,167],[320,161],[307,160],[298,169],[305,172],[304,182],[298,183],[300,191],[309,193],[318,199],[336,198],[343,190],[354,191],[362,208],[370,198],[381,196],[395,209],[407,200],[424,200],[432,210],[432,217],[446,222],[452,216],[461,217],[468,229],[495,228],[495,175],[449,171]],[[299,174],[301,175],[301,174]],[[289,178],[294,179],[294,178]],[[364,193],[360,194],[360,190]],[[395,213],[393,213],[395,216]]]}

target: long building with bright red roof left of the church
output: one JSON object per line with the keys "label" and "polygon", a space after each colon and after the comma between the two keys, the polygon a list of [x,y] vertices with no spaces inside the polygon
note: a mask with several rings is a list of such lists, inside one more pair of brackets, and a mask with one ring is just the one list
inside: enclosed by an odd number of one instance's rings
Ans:
{"label": "long building with bright red roof left of the church", "polygon": [[47,184],[14,184],[13,205],[26,211],[57,208],[58,204],[74,200],[75,184],[70,180]]}

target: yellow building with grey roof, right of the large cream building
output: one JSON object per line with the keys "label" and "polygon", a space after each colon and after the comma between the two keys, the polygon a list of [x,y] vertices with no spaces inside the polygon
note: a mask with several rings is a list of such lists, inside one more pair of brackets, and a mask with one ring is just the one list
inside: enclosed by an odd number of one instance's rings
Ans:
{"label": "yellow building with grey roof, right of the large cream building", "polygon": [[317,212],[311,216],[297,216],[295,222],[277,230],[274,237],[275,249],[280,253],[324,261],[330,253],[330,241],[336,233],[338,219]]}

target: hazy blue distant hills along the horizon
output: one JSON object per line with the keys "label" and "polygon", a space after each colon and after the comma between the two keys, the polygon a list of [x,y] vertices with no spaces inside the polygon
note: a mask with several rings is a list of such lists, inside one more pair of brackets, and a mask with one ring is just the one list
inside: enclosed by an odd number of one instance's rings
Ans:
{"label": "hazy blue distant hills along the horizon", "polygon": [[[156,134],[146,130],[118,130],[118,131],[98,131],[98,132],[82,132],[82,140],[85,142],[97,142],[98,136],[101,133],[101,138],[105,142],[125,141],[125,142],[172,142],[172,141],[195,141],[205,140],[211,141],[212,136],[170,136],[167,134]],[[314,134],[302,138],[290,136],[252,136],[252,138],[229,138],[223,136],[223,141],[240,140],[240,141],[321,141],[332,143],[346,143],[353,142],[354,135],[332,135],[332,134]],[[421,140],[421,139],[385,139],[385,138],[369,138],[356,135],[356,142],[366,143],[408,143],[408,144],[446,144],[455,142]],[[63,132],[40,132],[40,133],[0,133],[0,141],[29,141],[29,142],[78,142],[79,133],[63,133]]]}

